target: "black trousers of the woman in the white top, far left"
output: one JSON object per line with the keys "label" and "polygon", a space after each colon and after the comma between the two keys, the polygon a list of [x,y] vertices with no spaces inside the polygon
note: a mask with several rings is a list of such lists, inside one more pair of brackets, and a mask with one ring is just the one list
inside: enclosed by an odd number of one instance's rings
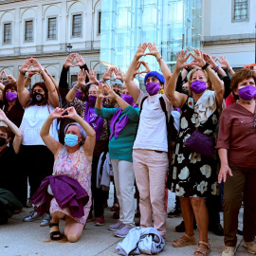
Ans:
{"label": "black trousers of the woman in the white top, far left", "polygon": [[27,198],[27,177],[30,197],[37,191],[42,180],[52,174],[54,155],[44,145],[21,146],[22,193]]}

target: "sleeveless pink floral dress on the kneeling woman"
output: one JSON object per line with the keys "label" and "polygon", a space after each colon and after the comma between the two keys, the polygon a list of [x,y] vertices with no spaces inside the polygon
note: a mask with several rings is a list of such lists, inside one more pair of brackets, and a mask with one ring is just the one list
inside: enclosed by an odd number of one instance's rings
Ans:
{"label": "sleeveless pink floral dress on the kneeling woman", "polygon": [[58,205],[56,199],[53,198],[50,202],[50,214],[54,211],[62,211],[78,223],[85,225],[91,208],[91,165],[92,163],[87,159],[84,153],[83,146],[72,154],[67,153],[66,146],[63,146],[55,159],[53,175],[63,174],[76,179],[81,184],[82,188],[88,193],[89,201],[83,207],[84,215],[80,218],[75,218],[71,215],[68,208],[62,209]]}

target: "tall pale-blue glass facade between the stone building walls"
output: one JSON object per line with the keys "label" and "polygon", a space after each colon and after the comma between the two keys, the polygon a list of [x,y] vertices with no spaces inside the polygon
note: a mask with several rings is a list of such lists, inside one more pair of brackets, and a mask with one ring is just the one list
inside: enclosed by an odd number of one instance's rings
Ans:
{"label": "tall pale-blue glass facade between the stone building walls", "polygon": [[[144,42],[155,42],[173,70],[176,51],[200,47],[201,18],[201,0],[101,0],[101,73],[127,70]],[[153,56],[143,59],[159,70]]]}

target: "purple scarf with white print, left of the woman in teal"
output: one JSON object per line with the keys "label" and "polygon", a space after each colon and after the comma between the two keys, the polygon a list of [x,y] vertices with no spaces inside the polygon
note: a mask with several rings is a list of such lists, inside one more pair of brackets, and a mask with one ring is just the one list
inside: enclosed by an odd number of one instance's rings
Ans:
{"label": "purple scarf with white print, left of the woman in teal", "polygon": [[96,140],[99,140],[101,137],[101,130],[104,124],[104,119],[98,117],[98,115],[94,112],[95,101],[94,99],[90,99],[90,97],[89,101],[87,101],[85,104],[84,120],[93,127],[96,132]]}

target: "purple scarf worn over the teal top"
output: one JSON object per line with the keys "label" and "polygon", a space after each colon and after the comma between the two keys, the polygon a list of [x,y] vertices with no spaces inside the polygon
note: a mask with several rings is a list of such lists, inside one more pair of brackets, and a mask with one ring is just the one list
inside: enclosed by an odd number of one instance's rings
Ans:
{"label": "purple scarf worn over the teal top", "polygon": [[[134,98],[128,94],[122,94],[121,99],[123,101],[126,101],[130,105],[134,102]],[[137,104],[134,104],[133,107],[137,107]],[[119,109],[116,111],[116,113],[113,115],[112,119],[110,120],[111,135],[109,139],[113,137],[114,133],[115,133],[115,138],[117,139],[119,137],[119,132],[129,121],[129,118],[126,115],[123,115],[121,119],[119,119],[121,112],[122,112],[122,109],[119,107]]]}

